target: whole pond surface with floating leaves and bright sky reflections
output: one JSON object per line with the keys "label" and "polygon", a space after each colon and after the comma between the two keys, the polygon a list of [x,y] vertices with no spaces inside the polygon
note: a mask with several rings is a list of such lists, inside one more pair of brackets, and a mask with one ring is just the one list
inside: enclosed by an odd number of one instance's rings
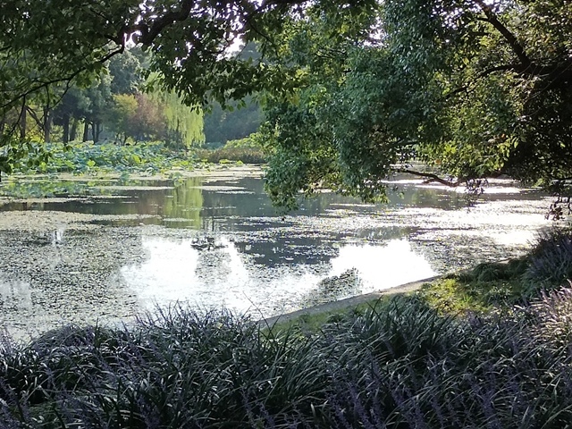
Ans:
{"label": "whole pond surface with floating leaves and bright sky reflections", "polygon": [[508,180],[469,205],[398,178],[386,205],[324,192],[282,216],[261,173],[4,181],[0,324],[25,337],[173,302],[277,315],[516,256],[550,224],[550,201]]}

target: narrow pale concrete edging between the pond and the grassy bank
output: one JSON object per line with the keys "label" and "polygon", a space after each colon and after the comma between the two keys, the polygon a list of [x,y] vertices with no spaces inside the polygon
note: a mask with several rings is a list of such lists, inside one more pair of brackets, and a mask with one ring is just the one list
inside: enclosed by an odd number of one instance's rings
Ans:
{"label": "narrow pale concrete edging between the pond and the grassy bank", "polygon": [[384,296],[397,295],[400,293],[407,293],[413,290],[418,290],[425,283],[433,282],[440,278],[442,278],[442,275],[435,275],[433,277],[429,277],[428,279],[401,284],[400,286],[395,286],[394,288],[390,289],[366,293],[365,295],[357,295],[357,297],[341,299],[339,301],[326,302],[325,304],[320,304],[315,307],[302,308],[301,310],[293,311],[292,313],[286,313],[285,315],[274,315],[273,317],[268,317],[266,319],[260,320],[259,323],[267,326],[272,326],[273,324],[277,323],[282,324],[284,322],[289,322],[290,320],[296,319],[301,315],[316,315],[319,313],[335,312],[348,307],[356,307],[359,304],[363,304],[374,299],[379,299]]}

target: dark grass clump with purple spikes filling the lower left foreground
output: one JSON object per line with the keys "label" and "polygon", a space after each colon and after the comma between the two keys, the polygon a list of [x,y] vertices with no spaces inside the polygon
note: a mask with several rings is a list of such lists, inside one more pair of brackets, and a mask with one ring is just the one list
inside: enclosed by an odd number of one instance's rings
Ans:
{"label": "dark grass clump with purple spikes filling the lower left foreground", "polygon": [[280,427],[323,405],[311,346],[181,307],[129,330],[69,327],[4,347],[0,426]]}

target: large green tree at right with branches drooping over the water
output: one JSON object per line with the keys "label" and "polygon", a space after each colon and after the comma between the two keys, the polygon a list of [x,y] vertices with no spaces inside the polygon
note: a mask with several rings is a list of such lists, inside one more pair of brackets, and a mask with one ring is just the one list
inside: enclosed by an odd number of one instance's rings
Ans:
{"label": "large green tree at right with branches drooping over the water", "polygon": [[[282,34],[275,60],[308,76],[296,97],[266,112],[267,190],[277,204],[296,206],[300,189],[321,186],[383,198],[383,179],[396,171],[451,186],[507,173],[564,191],[569,2],[390,1],[361,35],[343,31],[364,28],[351,23],[355,13],[336,21],[311,9]],[[333,64],[316,62],[332,55]],[[442,175],[413,171],[412,160]]]}

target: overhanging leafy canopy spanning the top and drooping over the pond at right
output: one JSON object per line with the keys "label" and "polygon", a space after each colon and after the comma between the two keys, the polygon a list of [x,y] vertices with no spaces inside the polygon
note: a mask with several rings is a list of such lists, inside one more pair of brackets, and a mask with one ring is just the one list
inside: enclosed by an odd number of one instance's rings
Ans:
{"label": "overhanging leafy canopy spanning the top and drooping over the pond at right", "polygon": [[53,84],[87,85],[139,44],[188,105],[261,95],[282,206],[324,186],[383,198],[412,161],[451,185],[507,173],[562,192],[572,177],[565,0],[0,0],[0,22],[4,147],[31,99],[55,102]]}

